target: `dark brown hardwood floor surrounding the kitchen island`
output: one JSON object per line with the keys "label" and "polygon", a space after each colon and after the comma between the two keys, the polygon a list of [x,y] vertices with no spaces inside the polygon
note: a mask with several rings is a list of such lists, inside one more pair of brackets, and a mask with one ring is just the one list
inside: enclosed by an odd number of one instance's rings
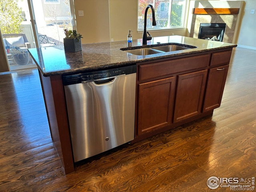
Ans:
{"label": "dark brown hardwood floor surrounding the kitchen island", "polygon": [[52,144],[38,71],[2,73],[0,192],[230,191],[206,182],[256,177],[255,59],[256,50],[234,49],[213,116],[84,160],[68,175]]}

